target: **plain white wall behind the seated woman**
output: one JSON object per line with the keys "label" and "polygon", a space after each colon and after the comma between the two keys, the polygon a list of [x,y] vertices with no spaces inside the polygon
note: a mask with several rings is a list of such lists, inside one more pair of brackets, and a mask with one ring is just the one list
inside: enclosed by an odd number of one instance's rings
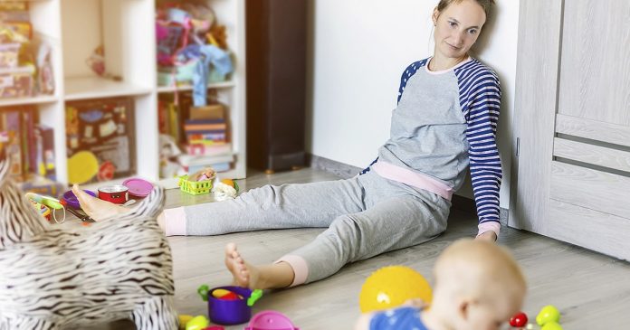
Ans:
{"label": "plain white wall behind the seated woman", "polygon": [[[307,151],[364,167],[389,136],[402,71],[433,53],[431,13],[437,0],[310,0],[310,93]],[[509,5],[508,5],[509,4]],[[499,74],[503,90],[499,145],[509,207],[511,111],[519,3],[499,0],[477,58]],[[472,198],[470,185],[459,192]]]}

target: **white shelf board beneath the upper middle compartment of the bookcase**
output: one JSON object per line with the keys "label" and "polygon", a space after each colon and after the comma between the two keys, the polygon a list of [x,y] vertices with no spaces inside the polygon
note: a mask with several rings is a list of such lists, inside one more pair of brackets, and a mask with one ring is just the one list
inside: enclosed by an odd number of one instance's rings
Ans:
{"label": "white shelf board beneath the upper middle compartment of the bookcase", "polygon": [[101,99],[118,96],[148,94],[152,90],[124,81],[114,81],[99,77],[68,78],[65,81],[65,99]]}

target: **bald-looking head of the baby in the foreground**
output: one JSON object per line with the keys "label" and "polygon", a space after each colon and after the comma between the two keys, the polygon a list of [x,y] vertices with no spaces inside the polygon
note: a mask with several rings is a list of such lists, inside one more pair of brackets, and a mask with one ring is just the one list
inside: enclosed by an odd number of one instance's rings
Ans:
{"label": "bald-looking head of the baby in the foreground", "polygon": [[520,310],[527,290],[519,265],[492,242],[458,240],[434,267],[431,314],[454,329],[498,329]]}

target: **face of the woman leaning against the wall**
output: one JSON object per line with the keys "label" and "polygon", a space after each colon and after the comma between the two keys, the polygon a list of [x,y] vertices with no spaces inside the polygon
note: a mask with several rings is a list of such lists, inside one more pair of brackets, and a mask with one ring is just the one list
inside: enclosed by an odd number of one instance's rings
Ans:
{"label": "face of the woman leaning against the wall", "polygon": [[477,41],[486,16],[474,0],[448,5],[442,12],[434,10],[435,52],[446,58],[462,58]]}

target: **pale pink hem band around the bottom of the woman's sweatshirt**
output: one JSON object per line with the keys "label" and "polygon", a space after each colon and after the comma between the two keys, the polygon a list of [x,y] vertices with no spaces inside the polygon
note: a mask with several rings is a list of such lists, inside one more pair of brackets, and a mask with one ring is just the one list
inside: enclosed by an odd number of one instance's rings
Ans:
{"label": "pale pink hem band around the bottom of the woman's sweatshirt", "polygon": [[408,184],[412,187],[435,193],[438,196],[450,201],[453,197],[453,187],[443,184],[429,175],[414,172],[410,169],[378,161],[371,167],[378,175],[394,180],[399,183]]}

